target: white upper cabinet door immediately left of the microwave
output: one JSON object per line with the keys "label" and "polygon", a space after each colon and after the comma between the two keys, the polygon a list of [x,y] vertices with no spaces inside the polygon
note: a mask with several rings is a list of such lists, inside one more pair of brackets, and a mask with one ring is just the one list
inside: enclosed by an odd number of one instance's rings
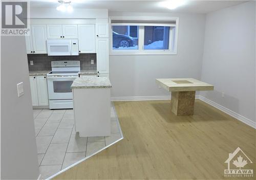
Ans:
{"label": "white upper cabinet door immediately left of the microwave", "polygon": [[34,54],[47,54],[46,25],[31,25]]}

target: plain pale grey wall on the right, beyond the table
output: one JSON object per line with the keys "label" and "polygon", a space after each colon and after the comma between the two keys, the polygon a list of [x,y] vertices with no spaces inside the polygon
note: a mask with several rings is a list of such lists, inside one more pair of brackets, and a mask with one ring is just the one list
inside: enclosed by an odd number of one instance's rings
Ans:
{"label": "plain pale grey wall on the right, beyond the table", "polygon": [[201,79],[215,90],[200,95],[256,121],[255,2],[207,14]]}

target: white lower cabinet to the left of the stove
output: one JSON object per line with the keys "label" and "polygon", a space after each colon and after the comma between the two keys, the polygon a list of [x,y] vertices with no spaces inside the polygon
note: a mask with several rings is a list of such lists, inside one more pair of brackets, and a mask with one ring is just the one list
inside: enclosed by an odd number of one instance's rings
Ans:
{"label": "white lower cabinet to the left of the stove", "polygon": [[31,88],[32,105],[49,105],[46,76],[30,76],[29,80]]}

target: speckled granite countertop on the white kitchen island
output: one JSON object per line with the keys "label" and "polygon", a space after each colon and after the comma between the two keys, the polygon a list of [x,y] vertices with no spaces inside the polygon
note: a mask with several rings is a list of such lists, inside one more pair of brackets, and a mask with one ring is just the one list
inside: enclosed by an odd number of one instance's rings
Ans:
{"label": "speckled granite countertop on the white kitchen island", "polygon": [[71,88],[111,88],[108,77],[80,77],[76,78]]}

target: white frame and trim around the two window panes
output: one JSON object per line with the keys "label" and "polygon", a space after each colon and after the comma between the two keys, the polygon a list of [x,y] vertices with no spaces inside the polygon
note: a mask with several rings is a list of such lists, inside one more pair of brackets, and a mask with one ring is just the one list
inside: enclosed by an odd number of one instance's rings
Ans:
{"label": "white frame and trim around the two window panes", "polygon": [[[171,27],[176,28],[175,33],[175,41],[173,44],[173,28],[169,30],[169,46],[168,50],[144,50],[144,26],[136,25],[136,24],[120,24],[121,26],[139,26],[138,32],[138,50],[113,50],[112,46],[112,20],[176,20],[176,25]],[[110,16],[109,17],[110,27],[110,55],[177,55],[177,42],[178,42],[178,25],[179,18],[178,17],[123,17],[123,16]],[[166,26],[162,25],[154,25],[148,24],[145,26]],[[169,26],[169,25],[168,25]],[[172,51],[173,50],[173,51]]]}

